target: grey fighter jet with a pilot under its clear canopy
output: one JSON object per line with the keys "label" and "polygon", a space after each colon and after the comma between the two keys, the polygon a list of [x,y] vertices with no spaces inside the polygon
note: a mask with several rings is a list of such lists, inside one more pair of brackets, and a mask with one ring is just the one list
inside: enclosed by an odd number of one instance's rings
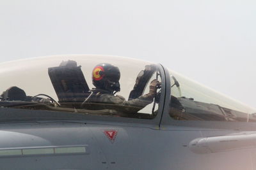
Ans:
{"label": "grey fighter jet with a pilot under its clear canopy", "polygon": [[256,169],[256,110],[161,64],[55,55],[0,80],[0,169]]}

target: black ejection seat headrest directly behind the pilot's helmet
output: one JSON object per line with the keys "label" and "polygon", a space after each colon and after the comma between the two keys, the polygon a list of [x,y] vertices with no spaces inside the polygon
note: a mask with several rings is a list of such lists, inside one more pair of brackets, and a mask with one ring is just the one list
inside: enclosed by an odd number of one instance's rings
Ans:
{"label": "black ejection seat headrest directly behind the pilot's helmet", "polygon": [[88,97],[90,89],[76,61],[63,61],[59,67],[49,67],[48,74],[60,103],[83,102]]}

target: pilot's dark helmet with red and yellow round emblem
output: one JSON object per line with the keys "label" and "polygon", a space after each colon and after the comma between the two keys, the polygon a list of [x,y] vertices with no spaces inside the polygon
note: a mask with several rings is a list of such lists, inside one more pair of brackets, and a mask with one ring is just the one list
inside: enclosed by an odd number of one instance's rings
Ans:
{"label": "pilot's dark helmet with red and yellow round emblem", "polygon": [[108,63],[97,64],[92,71],[92,82],[97,89],[108,90],[109,92],[120,91],[120,71]]}

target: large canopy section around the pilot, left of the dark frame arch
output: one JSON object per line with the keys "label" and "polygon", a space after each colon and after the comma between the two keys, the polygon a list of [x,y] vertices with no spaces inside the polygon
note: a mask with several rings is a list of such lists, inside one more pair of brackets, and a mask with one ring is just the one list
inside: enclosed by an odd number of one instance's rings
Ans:
{"label": "large canopy section around the pilot, left of the dark frame arch", "polygon": [[[0,106],[86,115],[154,118],[159,64],[110,56],[56,56],[1,67]],[[154,94],[149,95],[155,83]]]}

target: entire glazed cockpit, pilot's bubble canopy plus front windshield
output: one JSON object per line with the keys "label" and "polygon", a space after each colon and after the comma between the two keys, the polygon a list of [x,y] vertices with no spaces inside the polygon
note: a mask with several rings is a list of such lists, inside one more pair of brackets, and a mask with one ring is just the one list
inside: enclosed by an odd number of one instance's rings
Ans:
{"label": "entire glazed cockpit, pilot's bubble canopy plus front windshield", "polygon": [[256,122],[254,108],[142,60],[103,55],[39,57],[0,64],[0,78],[0,110]]}

